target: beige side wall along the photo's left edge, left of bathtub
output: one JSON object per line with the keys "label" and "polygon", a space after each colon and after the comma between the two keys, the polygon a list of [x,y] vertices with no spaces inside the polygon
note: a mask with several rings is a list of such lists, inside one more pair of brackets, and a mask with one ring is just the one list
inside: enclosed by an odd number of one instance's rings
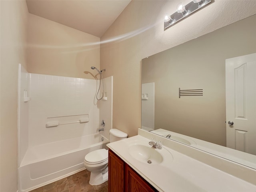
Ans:
{"label": "beige side wall along the photo's left edge, left of bathtub", "polygon": [[26,68],[26,1],[1,4],[0,191],[17,191],[18,64]]}

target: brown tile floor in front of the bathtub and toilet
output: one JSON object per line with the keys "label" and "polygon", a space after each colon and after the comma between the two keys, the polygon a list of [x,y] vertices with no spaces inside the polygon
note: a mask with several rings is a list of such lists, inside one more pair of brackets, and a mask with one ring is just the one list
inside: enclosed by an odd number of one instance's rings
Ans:
{"label": "brown tile floor in front of the bathtub and toilet", "polygon": [[92,186],[89,179],[90,172],[83,170],[30,192],[108,192],[108,181]]}

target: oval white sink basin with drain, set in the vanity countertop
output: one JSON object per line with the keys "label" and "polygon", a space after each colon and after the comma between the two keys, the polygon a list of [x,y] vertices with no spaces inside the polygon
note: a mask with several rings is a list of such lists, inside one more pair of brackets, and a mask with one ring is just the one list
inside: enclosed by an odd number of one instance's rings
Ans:
{"label": "oval white sink basin with drain, set in the vanity countertop", "polygon": [[130,146],[129,153],[133,158],[143,163],[160,164],[164,160],[157,149],[151,146],[134,144]]}

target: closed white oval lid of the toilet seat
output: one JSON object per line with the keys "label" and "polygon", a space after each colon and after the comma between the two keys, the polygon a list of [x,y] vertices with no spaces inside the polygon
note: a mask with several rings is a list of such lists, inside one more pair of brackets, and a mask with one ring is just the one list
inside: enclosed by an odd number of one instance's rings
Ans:
{"label": "closed white oval lid of the toilet seat", "polygon": [[84,160],[88,163],[101,163],[108,159],[108,150],[106,149],[98,149],[88,153]]}

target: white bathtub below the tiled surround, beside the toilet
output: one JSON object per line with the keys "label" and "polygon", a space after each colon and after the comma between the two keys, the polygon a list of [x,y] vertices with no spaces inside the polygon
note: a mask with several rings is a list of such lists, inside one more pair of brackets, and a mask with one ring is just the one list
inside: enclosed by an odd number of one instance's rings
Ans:
{"label": "white bathtub below the tiled surround, beside the toilet", "polygon": [[[103,141],[102,141],[103,140]],[[92,134],[28,148],[18,168],[18,190],[28,192],[84,170],[84,156],[109,140]]]}

